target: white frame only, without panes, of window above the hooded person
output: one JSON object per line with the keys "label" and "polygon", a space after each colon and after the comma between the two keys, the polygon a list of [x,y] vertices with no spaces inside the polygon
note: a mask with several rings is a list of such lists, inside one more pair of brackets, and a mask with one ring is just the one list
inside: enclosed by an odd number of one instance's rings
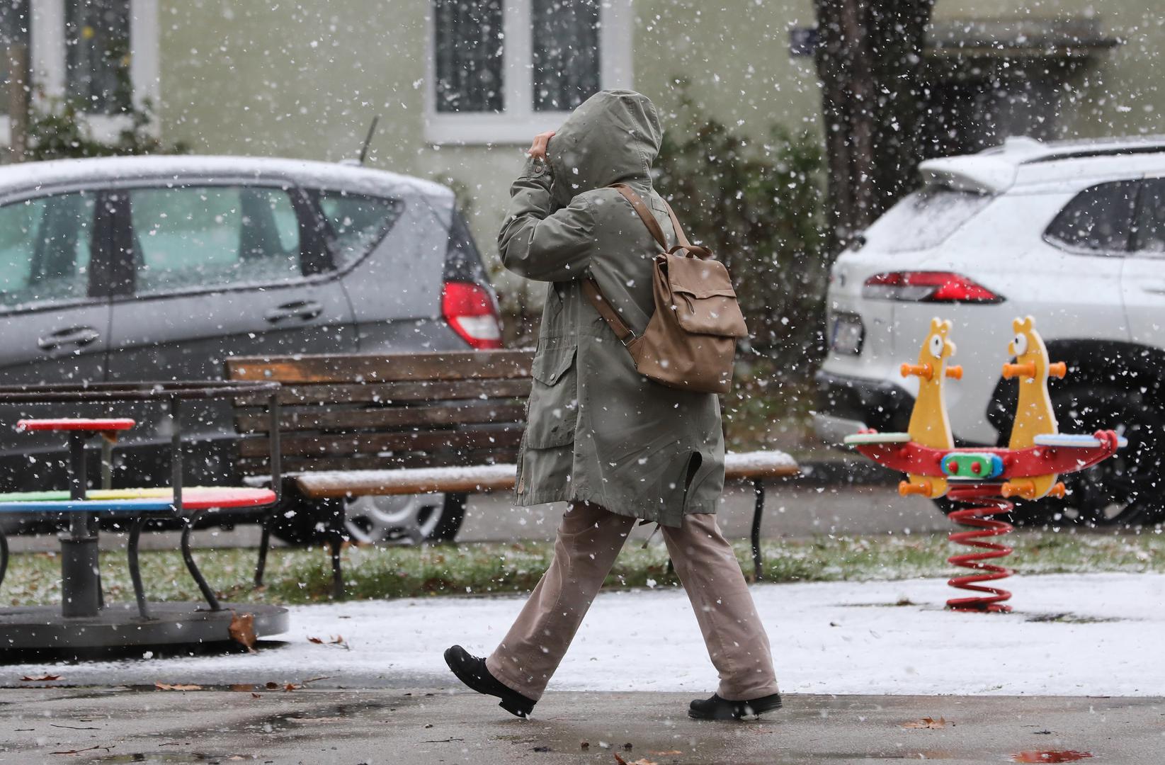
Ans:
{"label": "white frame only, without panes, of window above the hooded person", "polygon": [[[599,86],[631,87],[631,0],[598,0]],[[425,141],[433,144],[528,144],[563,123],[569,111],[534,111],[534,15],[531,0],[503,0],[502,112],[437,111],[437,35],[433,3],[425,10]],[[515,31],[517,30],[517,31]]]}

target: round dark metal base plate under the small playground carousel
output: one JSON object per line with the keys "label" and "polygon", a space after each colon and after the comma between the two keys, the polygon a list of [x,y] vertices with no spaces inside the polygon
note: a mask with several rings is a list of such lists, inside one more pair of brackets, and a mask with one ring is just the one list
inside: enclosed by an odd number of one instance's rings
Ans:
{"label": "round dark metal base plate under the small playground carousel", "polygon": [[288,610],[278,605],[224,603],[150,603],[142,619],[134,603],[110,603],[98,616],[65,618],[59,605],[0,608],[0,657],[13,650],[84,650],[151,645],[195,645],[232,640],[232,611],[255,617],[255,636],[288,629]]}

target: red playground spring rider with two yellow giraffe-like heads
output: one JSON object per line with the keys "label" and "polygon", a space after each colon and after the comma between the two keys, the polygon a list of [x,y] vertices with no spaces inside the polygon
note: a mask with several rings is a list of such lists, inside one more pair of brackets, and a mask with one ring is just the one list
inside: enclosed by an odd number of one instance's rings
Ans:
{"label": "red playground spring rider with two yellow giraffe-like heads", "polygon": [[862,431],[846,438],[869,459],[906,474],[898,484],[903,496],[948,500],[970,505],[955,510],[951,519],[973,531],[951,533],[951,541],[984,552],[953,555],[954,566],[982,573],[955,576],[952,587],[986,593],[947,601],[947,608],[960,611],[1010,611],[1003,603],[1011,593],[977,582],[1010,576],[1010,568],[983,562],[1011,554],[1004,545],[986,541],[1012,530],[1011,524],[991,516],[1010,512],[1015,504],[1010,497],[1038,500],[1064,496],[1059,474],[1092,467],[1127,446],[1114,431],[1097,431],[1093,435],[1068,435],[1057,430],[1052,402],[1047,396],[1048,376],[1064,377],[1064,362],[1051,363],[1047,348],[1036,332],[1031,317],[1011,323],[1015,337],[1008,345],[1014,363],[1003,364],[1003,376],[1018,378],[1019,396],[1011,440],[1007,448],[954,448],[951,423],[947,419],[942,384],[946,377],[962,378],[962,368],[947,366],[955,347],[949,340],[951,323],[934,319],[931,331],[918,354],[918,363],[902,364],[902,376],[918,377],[918,398],[905,433]]}

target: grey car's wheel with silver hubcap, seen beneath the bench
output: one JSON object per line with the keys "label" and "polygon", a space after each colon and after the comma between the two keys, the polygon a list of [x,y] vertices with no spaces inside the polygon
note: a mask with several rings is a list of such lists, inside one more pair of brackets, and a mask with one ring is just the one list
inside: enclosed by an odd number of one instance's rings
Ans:
{"label": "grey car's wheel with silver hubcap, seen beneath the bench", "polygon": [[348,536],[365,544],[452,541],[465,519],[464,494],[356,497],[345,517]]}

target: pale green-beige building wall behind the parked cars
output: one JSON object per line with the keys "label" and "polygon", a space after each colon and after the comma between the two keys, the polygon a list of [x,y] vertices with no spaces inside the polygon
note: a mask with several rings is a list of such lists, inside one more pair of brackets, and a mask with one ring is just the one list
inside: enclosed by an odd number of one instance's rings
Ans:
{"label": "pale green-beige building wall behind the parked cars", "polygon": [[[1079,79],[1067,135],[1165,132],[1165,26],[1156,0],[1042,0],[1030,14],[1099,13],[1127,43]],[[1015,0],[938,0],[935,17],[1024,15]],[[308,7],[308,10],[303,8]],[[763,136],[772,122],[818,129],[812,62],[791,58],[789,28],[813,24],[811,0],[635,0],[635,86],[665,127],[677,80],[729,125]],[[372,164],[451,176],[473,194],[472,227],[487,256],[521,164],[520,147],[424,142],[424,0],[161,0],[162,125],[196,151],[317,160],[354,156],[381,114]],[[511,285],[507,282],[503,289]]]}

